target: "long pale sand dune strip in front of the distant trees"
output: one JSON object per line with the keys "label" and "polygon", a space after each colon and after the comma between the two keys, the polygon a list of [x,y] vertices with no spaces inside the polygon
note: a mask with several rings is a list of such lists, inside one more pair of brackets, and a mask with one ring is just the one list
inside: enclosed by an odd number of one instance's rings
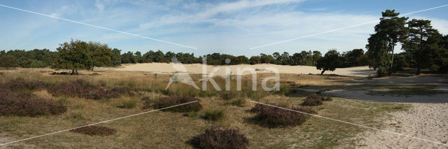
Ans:
{"label": "long pale sand dune strip in front of the distant trees", "polygon": [[[183,64],[186,67],[187,73],[202,73],[202,64]],[[257,70],[257,73],[272,73],[273,71],[268,71],[268,67],[274,67],[279,70],[280,73],[297,73],[297,74],[309,74],[309,73],[321,73],[317,70],[315,66],[287,66],[287,65],[275,65],[275,64],[239,64],[239,65],[229,65],[229,66],[212,66],[207,65],[207,73],[211,73],[214,69],[218,71],[215,73],[217,76],[225,76],[226,68],[230,69],[230,72],[237,74],[237,70],[244,69],[246,67],[253,68]],[[146,71],[151,73],[176,73],[179,70],[174,69],[173,64],[167,63],[144,63],[144,64],[123,64],[119,67],[100,67],[95,69],[97,71]],[[335,71],[325,71],[325,74],[337,74],[342,76],[357,76],[357,77],[367,77],[370,74],[374,74],[373,69],[369,69],[368,66],[357,66],[350,68],[336,69]],[[248,74],[244,72],[243,74]]]}

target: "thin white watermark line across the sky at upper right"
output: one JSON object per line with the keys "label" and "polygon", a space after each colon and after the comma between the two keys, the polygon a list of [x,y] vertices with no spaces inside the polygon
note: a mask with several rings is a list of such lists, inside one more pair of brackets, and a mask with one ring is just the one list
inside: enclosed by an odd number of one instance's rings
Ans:
{"label": "thin white watermark line across the sky at upper right", "polygon": [[[414,13],[421,13],[423,11],[433,10],[433,9],[442,8],[442,7],[446,7],[446,6],[448,6],[448,5],[442,5],[442,6],[437,6],[437,7],[433,7],[433,8],[427,8],[427,9],[423,9],[423,10],[418,10],[418,11],[414,11],[412,13],[405,13],[405,14],[402,14],[402,15],[398,15],[398,17],[402,17],[402,16],[406,16],[406,15],[412,15]],[[349,28],[352,28],[352,27],[358,27],[358,26],[361,26],[361,25],[370,24],[370,23],[374,23],[374,22],[378,22],[378,21],[379,20],[372,20],[370,22],[364,22],[364,23],[360,23],[360,24],[353,24],[353,25],[348,26],[348,27],[342,27],[342,28],[339,28],[339,29],[331,29],[331,30],[328,30],[328,31],[323,31],[323,32],[316,33],[316,34],[309,34],[309,35],[306,35],[306,36],[300,36],[300,37],[297,37],[297,38],[290,38],[290,39],[285,40],[285,41],[278,41],[278,42],[275,42],[275,43],[269,43],[269,44],[266,44],[266,45],[260,45],[260,46],[252,47],[250,49],[253,50],[253,49],[267,47],[269,45],[276,45],[276,44],[280,44],[280,43],[286,43],[286,42],[289,42],[289,41],[295,41],[295,40],[300,39],[300,38],[307,38],[307,37],[310,37],[310,36],[317,36],[317,35],[320,35],[320,34],[326,34],[326,33],[330,33],[330,32],[340,31],[340,30],[343,30],[343,29],[349,29]]]}

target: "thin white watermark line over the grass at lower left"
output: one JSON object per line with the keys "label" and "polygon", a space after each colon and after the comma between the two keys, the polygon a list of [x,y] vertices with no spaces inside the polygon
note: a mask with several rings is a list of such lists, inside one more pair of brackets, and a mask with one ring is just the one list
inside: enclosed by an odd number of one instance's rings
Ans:
{"label": "thin white watermark line over the grass at lower left", "polygon": [[137,114],[134,114],[134,115],[128,115],[128,116],[121,117],[121,118],[115,118],[115,119],[112,119],[112,120],[105,120],[105,121],[97,122],[97,123],[93,123],[93,124],[90,124],[90,125],[84,125],[84,126],[80,126],[80,127],[71,128],[71,129],[65,129],[65,130],[61,130],[61,131],[59,131],[59,132],[52,132],[52,133],[50,133],[50,134],[43,134],[43,135],[40,135],[40,136],[33,136],[33,137],[31,137],[31,138],[27,138],[27,139],[21,139],[21,140],[18,140],[18,141],[12,141],[12,142],[9,142],[9,143],[3,143],[3,144],[0,144],[0,146],[5,146],[5,145],[8,145],[8,144],[11,144],[11,143],[17,143],[17,142],[20,142],[20,141],[27,141],[27,140],[29,140],[29,139],[36,139],[36,138],[40,138],[40,137],[43,137],[43,136],[49,136],[49,135],[52,135],[52,134],[58,134],[58,133],[61,133],[61,132],[67,132],[67,131],[70,131],[70,130],[73,130],[73,129],[82,128],[82,127],[87,127],[87,126],[92,126],[92,125],[102,124],[102,123],[104,123],[104,122],[111,122],[111,121],[114,121],[114,120],[120,120],[120,119],[123,119],[123,118],[130,118],[130,117],[137,116],[137,115],[142,115],[142,114],[151,113],[151,112],[155,112],[155,111],[161,111],[161,110],[164,110],[164,109],[167,109],[167,108],[174,108],[174,107],[176,107],[176,106],[182,106],[182,105],[186,105],[186,104],[192,104],[192,103],[195,103],[195,102],[197,102],[197,101],[191,101],[191,102],[188,102],[188,103],[178,104],[178,105],[175,105],[175,106],[168,106],[168,107],[165,107],[165,108],[159,108],[159,109],[156,109],[156,110],[153,110],[153,111],[146,111],[146,112],[144,112],[144,113],[137,113]]}

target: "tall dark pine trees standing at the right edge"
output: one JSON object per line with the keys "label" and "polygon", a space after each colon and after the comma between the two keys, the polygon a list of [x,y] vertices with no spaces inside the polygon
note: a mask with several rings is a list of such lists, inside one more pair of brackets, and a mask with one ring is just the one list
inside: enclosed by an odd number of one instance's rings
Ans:
{"label": "tall dark pine trees standing at the right edge", "polygon": [[[408,20],[395,10],[382,12],[374,34],[368,38],[366,55],[379,76],[391,75],[403,67],[444,73],[448,70],[448,36],[433,29],[430,20]],[[395,45],[405,52],[394,53]]]}

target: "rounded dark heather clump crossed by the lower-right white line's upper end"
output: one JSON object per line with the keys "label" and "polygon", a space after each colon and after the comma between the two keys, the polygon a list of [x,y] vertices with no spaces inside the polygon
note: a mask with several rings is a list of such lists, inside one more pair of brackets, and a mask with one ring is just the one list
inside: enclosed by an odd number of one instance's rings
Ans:
{"label": "rounded dark heather clump crossed by the lower-right white line's upper end", "polygon": [[[274,106],[255,104],[255,106],[251,109],[251,112],[257,113],[254,120],[256,120],[259,125],[269,128],[295,127],[297,125],[302,125],[302,123],[308,118],[308,116],[304,113],[315,113],[310,108],[292,107],[290,109],[293,111],[288,111],[286,109],[277,108]],[[295,111],[304,113],[298,113]]]}

